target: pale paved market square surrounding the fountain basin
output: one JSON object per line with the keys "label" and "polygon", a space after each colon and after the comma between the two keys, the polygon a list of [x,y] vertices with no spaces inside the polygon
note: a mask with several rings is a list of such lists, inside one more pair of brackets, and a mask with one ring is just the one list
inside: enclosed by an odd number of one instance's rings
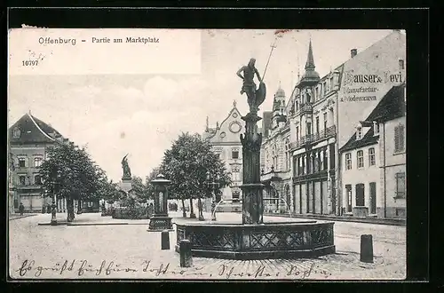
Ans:
{"label": "pale paved market square surrounding the fountain basin", "polygon": [[[181,218],[179,212],[170,216],[175,223],[197,221]],[[59,220],[64,218],[58,214]],[[161,234],[147,232],[147,220],[96,213],[76,215],[78,226],[38,226],[50,219],[51,215],[39,214],[9,221],[12,278],[400,280],[406,272],[405,226],[336,222],[334,255],[262,261],[194,257],[192,268],[180,268],[176,234],[170,233],[171,249],[161,250]],[[241,222],[241,215],[218,213],[218,220]],[[285,220],[290,219],[265,217]],[[359,261],[361,234],[373,235],[374,264]]]}

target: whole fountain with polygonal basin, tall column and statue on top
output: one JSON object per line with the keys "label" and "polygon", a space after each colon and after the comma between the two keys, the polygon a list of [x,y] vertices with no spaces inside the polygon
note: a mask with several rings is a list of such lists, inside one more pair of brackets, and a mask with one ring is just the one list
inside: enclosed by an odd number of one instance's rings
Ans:
{"label": "whole fountain with polygonal basin, tall column and statue on top", "polygon": [[[266,85],[260,81],[258,90],[252,82],[258,74],[254,59],[242,67],[242,92],[247,93],[250,113],[243,116],[245,134],[241,134],[243,184],[242,223],[206,221],[177,224],[177,245],[183,239],[191,242],[195,257],[231,259],[266,259],[284,257],[318,257],[335,253],[333,222],[316,220],[264,222],[264,185],[260,182],[260,147],[258,106],[266,97]],[[252,84],[252,86],[251,86]],[[254,90],[253,90],[254,88]],[[220,203],[220,202],[219,202]],[[215,209],[216,210],[216,209]]]}

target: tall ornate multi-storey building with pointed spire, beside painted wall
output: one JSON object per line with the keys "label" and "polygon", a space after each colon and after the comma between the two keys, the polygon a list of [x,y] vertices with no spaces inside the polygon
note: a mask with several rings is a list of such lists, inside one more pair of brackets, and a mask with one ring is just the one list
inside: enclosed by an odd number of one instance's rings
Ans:
{"label": "tall ornate multi-storey building with pointed spire, beside painted wall", "polygon": [[305,74],[296,85],[290,116],[293,210],[297,214],[334,214],[336,210],[340,70],[321,78],[315,71],[310,41]]}

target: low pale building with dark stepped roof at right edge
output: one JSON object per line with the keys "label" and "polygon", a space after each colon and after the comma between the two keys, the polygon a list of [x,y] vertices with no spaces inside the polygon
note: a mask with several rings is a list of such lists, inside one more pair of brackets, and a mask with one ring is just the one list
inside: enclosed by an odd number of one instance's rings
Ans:
{"label": "low pale building with dark stepped roof at right edge", "polygon": [[340,149],[345,215],[406,217],[405,93],[393,86]]}

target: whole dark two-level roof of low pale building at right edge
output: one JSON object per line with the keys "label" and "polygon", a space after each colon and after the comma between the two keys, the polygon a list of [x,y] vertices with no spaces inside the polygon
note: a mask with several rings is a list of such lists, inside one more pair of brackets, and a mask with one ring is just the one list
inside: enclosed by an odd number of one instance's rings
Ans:
{"label": "whole dark two-level roof of low pale building at right edge", "polygon": [[[405,86],[405,83],[392,86],[392,89],[387,91],[383,99],[377,103],[377,107],[373,109],[367,119],[364,122],[361,122],[361,124],[373,126],[372,124],[374,121],[377,123],[382,123],[404,116],[406,107],[404,100]],[[344,147],[341,147],[339,151],[345,152],[355,148],[374,145],[377,144],[378,139],[379,136],[375,136],[373,127],[370,127],[370,130],[362,139],[356,140],[356,133],[354,133],[352,138],[348,139],[347,143],[344,145]]]}

